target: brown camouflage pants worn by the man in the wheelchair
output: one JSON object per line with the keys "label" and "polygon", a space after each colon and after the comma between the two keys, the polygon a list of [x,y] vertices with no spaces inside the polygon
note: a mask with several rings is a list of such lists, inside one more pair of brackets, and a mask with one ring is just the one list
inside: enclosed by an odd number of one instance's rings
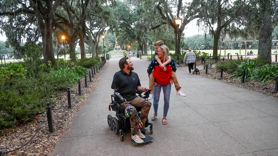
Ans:
{"label": "brown camouflage pants worn by the man in the wheelchair", "polygon": [[[149,110],[151,109],[151,102],[147,101],[146,99],[142,99],[140,97],[136,97],[135,99],[128,101],[130,104],[121,104],[121,106],[127,106],[127,105],[133,105],[135,107],[141,108],[140,118],[143,123],[143,127],[145,126],[145,123],[147,121]],[[130,118],[130,125],[131,125],[131,133],[137,134],[139,130],[138,125],[138,118],[136,115],[135,109],[129,110],[129,118]]]}

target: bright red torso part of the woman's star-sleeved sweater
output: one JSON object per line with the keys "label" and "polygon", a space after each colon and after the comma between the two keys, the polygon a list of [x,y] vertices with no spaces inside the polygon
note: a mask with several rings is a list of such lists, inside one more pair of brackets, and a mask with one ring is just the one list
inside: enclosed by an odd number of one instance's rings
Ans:
{"label": "bright red torso part of the woman's star-sleeved sweater", "polygon": [[157,83],[162,86],[167,85],[170,83],[171,75],[172,75],[172,66],[165,66],[167,68],[164,71],[160,66],[154,66],[153,69],[153,77],[156,79]]}

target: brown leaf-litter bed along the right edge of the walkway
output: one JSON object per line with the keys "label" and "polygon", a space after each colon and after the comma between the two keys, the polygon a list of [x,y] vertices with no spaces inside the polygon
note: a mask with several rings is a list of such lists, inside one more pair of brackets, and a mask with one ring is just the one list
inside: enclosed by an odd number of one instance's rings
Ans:
{"label": "brown leaf-litter bed along the right edge of the walkway", "polygon": [[250,79],[246,79],[244,83],[241,83],[241,80],[237,81],[232,79],[231,78],[232,74],[227,73],[225,71],[223,71],[223,77],[222,79],[220,79],[220,71],[217,71],[216,68],[208,69],[208,74],[206,74],[206,70],[200,70],[200,75],[211,79],[217,79],[218,81],[222,81],[230,85],[242,87],[248,90],[253,90],[262,94],[266,94],[278,98],[278,92],[274,90],[275,81],[258,83],[258,82],[250,81]]}

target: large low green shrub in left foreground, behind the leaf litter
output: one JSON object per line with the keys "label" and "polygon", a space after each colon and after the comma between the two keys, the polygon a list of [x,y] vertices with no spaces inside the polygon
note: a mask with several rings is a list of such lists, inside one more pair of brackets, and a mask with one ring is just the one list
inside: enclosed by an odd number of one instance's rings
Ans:
{"label": "large low green shrub in left foreground, behind the leaf litter", "polygon": [[45,112],[46,101],[52,102],[50,94],[41,88],[35,78],[4,79],[0,83],[0,129],[10,127],[15,122],[33,120],[34,116]]}

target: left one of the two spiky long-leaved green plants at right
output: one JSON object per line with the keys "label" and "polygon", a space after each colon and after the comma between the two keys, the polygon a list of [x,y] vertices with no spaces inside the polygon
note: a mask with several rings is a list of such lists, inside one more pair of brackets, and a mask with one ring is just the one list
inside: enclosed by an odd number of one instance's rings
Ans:
{"label": "left one of the two spiky long-leaved green plants at right", "polygon": [[245,79],[251,77],[255,70],[257,70],[259,66],[257,65],[257,60],[247,60],[241,62],[237,69],[233,72],[232,78],[234,79],[241,79],[242,78],[242,71],[245,69]]}

